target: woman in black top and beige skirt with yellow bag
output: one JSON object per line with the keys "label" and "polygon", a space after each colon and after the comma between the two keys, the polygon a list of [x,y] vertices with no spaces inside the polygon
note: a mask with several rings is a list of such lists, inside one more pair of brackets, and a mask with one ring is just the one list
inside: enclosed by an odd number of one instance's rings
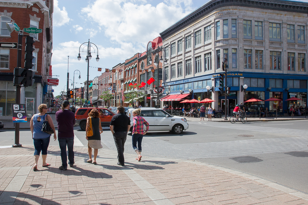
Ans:
{"label": "woman in black top and beige skirt with yellow bag", "polygon": [[88,140],[88,154],[89,154],[89,160],[87,160],[87,163],[92,163],[92,148],[94,149],[94,160],[93,164],[96,164],[96,157],[98,149],[103,148],[101,142],[100,142],[100,134],[103,133],[102,124],[100,122],[100,115],[97,109],[92,109],[89,113],[89,117],[87,118],[87,128],[86,133],[88,132],[90,119],[92,124],[92,130],[93,135],[87,136],[86,139]]}

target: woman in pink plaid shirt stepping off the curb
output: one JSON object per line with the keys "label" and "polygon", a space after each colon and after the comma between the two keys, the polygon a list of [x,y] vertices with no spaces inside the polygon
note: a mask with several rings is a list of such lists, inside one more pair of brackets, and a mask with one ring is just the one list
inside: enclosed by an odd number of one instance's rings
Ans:
{"label": "woman in pink plaid shirt stepping off the curb", "polygon": [[[140,108],[133,110],[133,134],[132,134],[132,144],[135,152],[138,154],[138,157],[136,160],[141,161],[141,142],[143,136],[148,132],[149,130],[149,123],[144,120],[143,117],[140,117]],[[143,124],[147,126],[146,131],[143,132]],[[137,142],[138,142],[138,148],[137,148]]]}

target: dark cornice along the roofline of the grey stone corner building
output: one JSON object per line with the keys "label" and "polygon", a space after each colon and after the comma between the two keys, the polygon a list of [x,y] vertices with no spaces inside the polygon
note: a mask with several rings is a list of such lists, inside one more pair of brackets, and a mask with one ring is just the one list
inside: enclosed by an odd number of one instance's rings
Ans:
{"label": "dark cornice along the roofline of the grey stone corner building", "polygon": [[308,14],[308,3],[305,2],[291,2],[283,0],[213,0],[201,6],[197,10],[193,11],[191,14],[188,14],[186,17],[182,18],[180,21],[170,26],[168,29],[161,32],[160,36],[165,39],[166,37],[171,36],[175,32],[185,28],[196,20],[209,14],[213,10],[216,10],[221,7],[228,8],[230,6],[252,7],[263,10],[278,10]]}

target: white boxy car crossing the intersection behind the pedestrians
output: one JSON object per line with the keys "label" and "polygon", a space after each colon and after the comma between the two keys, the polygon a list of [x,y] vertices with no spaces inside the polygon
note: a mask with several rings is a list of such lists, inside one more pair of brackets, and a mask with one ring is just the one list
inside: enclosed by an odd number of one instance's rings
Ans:
{"label": "white boxy car crossing the intersection behind the pedestrians", "polygon": [[[131,132],[133,126],[132,111],[137,108],[129,109],[126,113],[131,119]],[[148,131],[173,131],[175,134],[181,134],[183,130],[188,129],[187,120],[184,117],[171,116],[161,108],[140,108],[140,116],[149,124]],[[146,126],[144,126],[145,130]]]}

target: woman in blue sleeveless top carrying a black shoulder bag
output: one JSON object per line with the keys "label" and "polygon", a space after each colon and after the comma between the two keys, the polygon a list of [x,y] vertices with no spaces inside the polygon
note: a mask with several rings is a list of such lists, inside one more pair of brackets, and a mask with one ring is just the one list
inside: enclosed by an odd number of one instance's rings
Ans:
{"label": "woman in blue sleeveless top carrying a black shoulder bag", "polygon": [[51,134],[47,134],[42,131],[44,119],[48,120],[50,128],[54,131],[54,139],[57,139],[54,123],[52,122],[51,116],[45,114],[47,112],[47,105],[40,104],[38,107],[39,114],[32,116],[30,120],[30,129],[32,132],[32,139],[34,144],[34,166],[33,171],[37,170],[39,155],[42,151],[43,167],[48,167],[51,164],[46,163],[47,148],[50,141]]}

